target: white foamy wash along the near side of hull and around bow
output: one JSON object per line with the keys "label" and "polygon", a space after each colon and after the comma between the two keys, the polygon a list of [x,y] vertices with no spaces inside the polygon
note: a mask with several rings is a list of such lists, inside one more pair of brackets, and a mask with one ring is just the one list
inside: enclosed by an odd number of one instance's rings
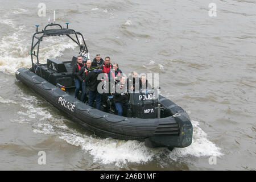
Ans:
{"label": "white foamy wash along the near side of hull and around bow", "polygon": [[148,148],[144,142],[137,140],[102,139],[81,134],[65,124],[70,121],[63,115],[52,111],[48,106],[44,106],[45,101],[38,100],[35,96],[23,97],[21,95],[19,99],[24,101],[20,104],[23,110],[18,112],[20,119],[28,122],[38,118],[32,124],[34,133],[55,135],[88,152],[93,161],[97,163],[123,167],[129,163],[146,164],[154,161],[160,166],[165,166],[174,161],[187,162],[189,158],[223,155],[221,148],[209,140],[208,135],[199,127],[197,121],[192,120],[192,144],[185,148],[174,148],[173,151],[169,151],[167,148]]}

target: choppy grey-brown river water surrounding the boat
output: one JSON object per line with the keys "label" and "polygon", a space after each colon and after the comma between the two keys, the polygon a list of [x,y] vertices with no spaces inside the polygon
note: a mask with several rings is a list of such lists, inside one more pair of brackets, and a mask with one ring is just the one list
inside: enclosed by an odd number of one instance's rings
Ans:
{"label": "choppy grey-brown river water surrounding the boat", "polygon": [[[256,169],[255,1],[44,1],[45,18],[39,3],[0,0],[1,170]],[[17,82],[16,69],[31,66],[35,24],[46,26],[53,10],[57,23],[85,36],[91,55],[112,57],[123,72],[159,73],[162,94],[192,119],[191,146],[168,151],[98,138]],[[41,63],[77,53],[62,40],[43,41]]]}

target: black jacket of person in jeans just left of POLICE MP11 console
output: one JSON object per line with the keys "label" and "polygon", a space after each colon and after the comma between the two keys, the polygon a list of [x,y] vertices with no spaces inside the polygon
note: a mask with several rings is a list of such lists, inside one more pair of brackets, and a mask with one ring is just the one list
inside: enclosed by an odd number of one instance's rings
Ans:
{"label": "black jacket of person in jeans just left of POLICE MP11 console", "polygon": [[127,93],[127,87],[126,84],[123,85],[123,88],[120,89],[120,85],[122,85],[121,82],[118,82],[117,85],[115,85],[115,93],[113,94],[114,103],[120,102],[120,103],[126,103],[129,101],[129,95]]}

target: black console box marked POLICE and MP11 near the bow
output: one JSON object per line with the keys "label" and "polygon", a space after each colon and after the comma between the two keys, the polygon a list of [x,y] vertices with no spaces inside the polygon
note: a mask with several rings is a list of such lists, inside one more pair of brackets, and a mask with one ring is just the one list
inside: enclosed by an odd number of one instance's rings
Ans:
{"label": "black console box marked POLICE and MP11 near the bow", "polygon": [[130,106],[132,117],[157,118],[158,89],[143,90],[130,93]]}

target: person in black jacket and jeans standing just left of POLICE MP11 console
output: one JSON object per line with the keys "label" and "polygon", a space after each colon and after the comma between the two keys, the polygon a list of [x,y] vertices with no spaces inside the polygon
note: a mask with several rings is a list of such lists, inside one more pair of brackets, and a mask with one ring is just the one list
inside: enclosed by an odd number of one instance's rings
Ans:
{"label": "person in black jacket and jeans standing just left of POLICE MP11 console", "polygon": [[123,106],[128,107],[129,95],[127,93],[126,78],[121,76],[117,85],[115,85],[115,93],[113,94],[115,108],[118,115],[123,114]]}

